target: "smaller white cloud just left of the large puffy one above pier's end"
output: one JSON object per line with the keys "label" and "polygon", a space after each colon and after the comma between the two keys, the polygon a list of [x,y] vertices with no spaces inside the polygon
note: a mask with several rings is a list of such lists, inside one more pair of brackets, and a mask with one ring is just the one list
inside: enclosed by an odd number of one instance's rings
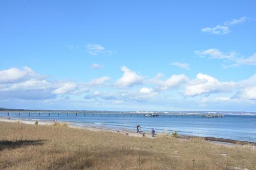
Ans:
{"label": "smaller white cloud just left of the large puffy one above pier's end", "polygon": [[163,76],[163,74],[158,73],[157,76],[151,79],[149,82],[157,85],[160,90],[167,90],[169,88],[179,87],[188,81],[188,78],[183,74],[173,75],[166,80],[161,80]]}

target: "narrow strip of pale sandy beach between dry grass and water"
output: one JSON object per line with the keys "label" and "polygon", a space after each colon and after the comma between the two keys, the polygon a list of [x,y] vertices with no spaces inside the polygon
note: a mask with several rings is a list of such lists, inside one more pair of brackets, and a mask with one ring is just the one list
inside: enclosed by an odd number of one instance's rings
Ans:
{"label": "narrow strip of pale sandy beach between dry grass and water", "polygon": [[[32,120],[32,119],[13,119],[13,118],[8,118],[8,117],[2,117],[0,116],[0,122],[9,122],[9,123],[23,123],[23,124],[28,124],[28,125],[35,125],[35,122],[38,122],[38,125],[41,126],[52,126],[54,123],[48,120]],[[100,128],[100,127],[91,127],[91,126],[79,126],[79,125],[72,125],[69,122],[61,122],[58,121],[57,123],[60,124],[67,124],[69,128],[75,128],[75,129],[86,129],[90,131],[104,131],[104,132],[110,132],[110,133],[118,133],[122,135],[128,135],[132,137],[143,137],[142,133],[137,133],[135,131],[131,130],[114,130],[114,129],[108,129],[108,128]],[[158,133],[160,136],[162,133]],[[156,135],[156,137],[158,136]],[[153,138],[151,133],[145,132],[145,137],[147,138]],[[179,135],[178,138],[180,139],[192,139],[192,138],[200,138],[203,139],[207,142],[214,143],[214,144],[222,144],[222,145],[233,145],[233,144],[239,144],[239,145],[252,145],[256,146],[256,142],[251,142],[251,141],[243,141],[243,140],[233,140],[233,139],[225,139],[225,138],[217,138],[217,137],[198,137],[198,136],[190,136],[190,135]]]}

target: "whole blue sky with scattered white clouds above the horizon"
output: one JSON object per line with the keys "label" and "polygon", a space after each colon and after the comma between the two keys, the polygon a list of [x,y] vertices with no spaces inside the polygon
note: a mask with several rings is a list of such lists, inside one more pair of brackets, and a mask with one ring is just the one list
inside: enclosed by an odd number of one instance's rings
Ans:
{"label": "whole blue sky with scattered white clouds above the horizon", "polygon": [[256,111],[255,1],[0,1],[0,107]]}

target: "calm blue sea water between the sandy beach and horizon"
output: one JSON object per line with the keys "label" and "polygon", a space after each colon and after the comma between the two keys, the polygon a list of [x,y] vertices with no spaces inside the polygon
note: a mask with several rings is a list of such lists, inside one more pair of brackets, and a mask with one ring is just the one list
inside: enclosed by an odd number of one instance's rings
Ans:
{"label": "calm blue sea water between the sandy beach and horizon", "polygon": [[[7,116],[7,113],[0,113],[0,116]],[[235,140],[245,140],[256,142],[256,116],[245,115],[225,115],[224,118],[202,118],[201,116],[163,116],[144,117],[144,115],[124,115],[123,114],[67,114],[51,113],[10,113],[11,118],[53,120],[79,126],[101,127],[115,130],[134,130],[140,125],[142,131],[150,132],[151,128],[156,133],[167,131],[177,131],[182,135],[218,137]]]}

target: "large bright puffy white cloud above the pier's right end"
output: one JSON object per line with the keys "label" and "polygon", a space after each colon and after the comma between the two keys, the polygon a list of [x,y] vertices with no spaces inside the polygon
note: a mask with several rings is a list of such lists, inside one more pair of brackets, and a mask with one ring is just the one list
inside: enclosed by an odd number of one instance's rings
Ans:
{"label": "large bright puffy white cloud above the pier's right end", "polygon": [[219,82],[211,76],[199,73],[196,79],[187,83],[183,94],[196,96],[201,94],[231,92],[235,87],[236,83],[234,82]]}

